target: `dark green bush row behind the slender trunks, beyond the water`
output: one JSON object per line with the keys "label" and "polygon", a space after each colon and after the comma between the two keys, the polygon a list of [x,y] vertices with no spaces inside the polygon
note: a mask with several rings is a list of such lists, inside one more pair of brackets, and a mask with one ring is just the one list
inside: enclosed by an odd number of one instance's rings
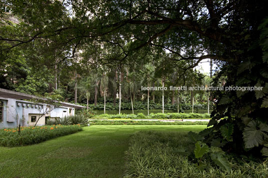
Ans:
{"label": "dark green bush row behind the slender trunks, beyond the water", "polygon": [[[93,110],[103,110],[104,109],[104,104],[103,103],[99,103],[96,106],[94,104],[90,104],[89,107]],[[106,103],[106,110],[118,110],[119,106],[118,104],[116,104],[115,106],[113,106],[113,103]],[[210,109],[211,109],[211,105],[210,105]],[[180,112],[183,112],[183,110],[189,110],[191,109],[192,106],[190,104],[186,104],[186,103],[182,103],[180,104]],[[121,110],[131,110],[131,103],[130,102],[122,102],[121,103]],[[143,103],[143,102],[136,102],[133,105],[133,109],[134,110],[145,110],[147,109],[147,103]],[[149,103],[149,109],[162,109],[162,104],[156,104],[153,102]],[[171,104],[165,104],[164,105],[164,109],[165,110],[177,110],[177,105],[171,105]],[[201,104],[193,104],[193,109],[197,109],[197,110],[205,110],[207,109],[207,104],[206,103],[201,103]]]}

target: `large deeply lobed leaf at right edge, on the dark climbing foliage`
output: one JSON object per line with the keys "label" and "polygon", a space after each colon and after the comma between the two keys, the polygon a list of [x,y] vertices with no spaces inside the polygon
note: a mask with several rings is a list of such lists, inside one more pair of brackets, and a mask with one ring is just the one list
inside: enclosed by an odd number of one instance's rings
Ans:
{"label": "large deeply lobed leaf at right edge, on the dark climbing foliage", "polygon": [[262,145],[264,139],[268,139],[267,133],[267,125],[254,120],[250,121],[243,131],[245,148],[253,148],[258,147],[258,145]]}

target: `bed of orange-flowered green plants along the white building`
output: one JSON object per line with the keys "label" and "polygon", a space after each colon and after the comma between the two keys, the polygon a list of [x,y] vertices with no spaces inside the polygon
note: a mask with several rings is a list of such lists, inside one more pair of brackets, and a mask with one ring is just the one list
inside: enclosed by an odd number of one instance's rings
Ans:
{"label": "bed of orange-flowered green plants along the white building", "polygon": [[0,146],[17,147],[31,144],[37,144],[56,137],[69,135],[81,131],[79,125],[62,126],[38,126],[38,127],[20,127],[20,129],[2,129],[0,130]]}

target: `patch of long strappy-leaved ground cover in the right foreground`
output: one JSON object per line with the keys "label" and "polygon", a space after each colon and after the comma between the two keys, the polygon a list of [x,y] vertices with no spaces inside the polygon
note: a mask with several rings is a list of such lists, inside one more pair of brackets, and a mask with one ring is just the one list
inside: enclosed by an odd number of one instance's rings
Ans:
{"label": "patch of long strappy-leaved ground cover in the right foreground", "polygon": [[[126,152],[125,178],[266,178],[268,175],[268,160],[254,162],[247,157],[232,159],[225,155],[228,161],[217,157],[217,162],[213,162],[208,154],[196,159],[202,149],[205,148],[196,147],[185,132],[138,132]],[[210,154],[217,153],[216,148],[213,151]],[[229,171],[222,169],[224,165],[229,165]]]}

